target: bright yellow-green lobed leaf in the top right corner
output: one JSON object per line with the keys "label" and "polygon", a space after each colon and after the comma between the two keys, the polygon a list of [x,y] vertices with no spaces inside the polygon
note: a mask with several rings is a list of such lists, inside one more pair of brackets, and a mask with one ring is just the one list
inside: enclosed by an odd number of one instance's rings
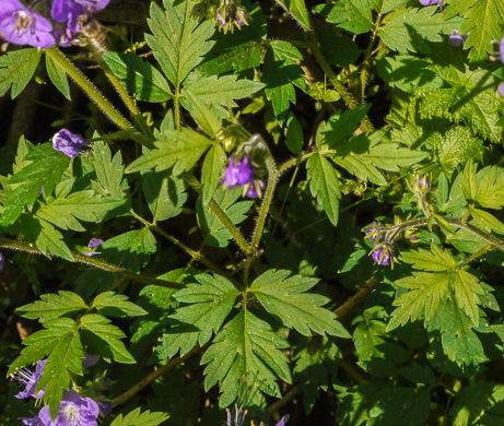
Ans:
{"label": "bright yellow-green lobed leaf in the top right corner", "polygon": [[493,52],[492,39],[500,40],[504,24],[504,2],[502,0],[453,1],[445,10],[446,17],[465,19],[459,34],[468,34],[465,49],[469,50],[472,62],[485,60]]}

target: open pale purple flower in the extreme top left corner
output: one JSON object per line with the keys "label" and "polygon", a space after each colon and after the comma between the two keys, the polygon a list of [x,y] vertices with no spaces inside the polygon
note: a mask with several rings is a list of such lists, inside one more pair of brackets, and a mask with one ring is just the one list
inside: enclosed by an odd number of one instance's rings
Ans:
{"label": "open pale purple flower in the extreme top left corner", "polygon": [[15,45],[43,48],[55,45],[52,24],[19,0],[0,1],[0,33]]}

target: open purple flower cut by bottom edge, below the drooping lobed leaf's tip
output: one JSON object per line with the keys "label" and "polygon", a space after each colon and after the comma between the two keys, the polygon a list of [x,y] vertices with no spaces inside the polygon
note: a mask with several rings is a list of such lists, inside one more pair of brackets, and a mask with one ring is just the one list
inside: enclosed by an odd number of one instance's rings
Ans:
{"label": "open purple flower cut by bottom edge, below the drooping lobed leaf's tip", "polygon": [[98,416],[98,404],[91,398],[81,398],[75,391],[65,391],[54,423],[50,419],[48,405],[38,413],[43,426],[97,426]]}

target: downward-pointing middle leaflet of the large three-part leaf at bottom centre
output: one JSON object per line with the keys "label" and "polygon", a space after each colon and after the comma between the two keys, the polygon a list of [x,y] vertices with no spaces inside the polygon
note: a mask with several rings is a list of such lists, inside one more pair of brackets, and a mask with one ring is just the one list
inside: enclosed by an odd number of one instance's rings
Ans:
{"label": "downward-pointing middle leaflet of the large three-part leaf at bottom centre", "polygon": [[280,351],[289,347],[271,327],[249,310],[242,310],[215,336],[201,357],[204,389],[220,382],[221,407],[230,406],[238,397],[239,383],[272,397],[280,397],[277,380],[291,382],[289,359]]}

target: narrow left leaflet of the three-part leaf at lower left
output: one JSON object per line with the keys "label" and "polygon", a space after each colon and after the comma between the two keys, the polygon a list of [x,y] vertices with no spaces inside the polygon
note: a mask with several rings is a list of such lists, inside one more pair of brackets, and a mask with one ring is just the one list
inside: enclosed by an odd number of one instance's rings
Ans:
{"label": "narrow left leaflet of the three-part leaf at lower left", "polygon": [[89,308],[81,296],[63,289],[60,289],[58,295],[43,294],[40,295],[40,299],[17,308],[15,312],[24,318],[38,319],[40,322],[46,322],[63,315],[77,313]]}

